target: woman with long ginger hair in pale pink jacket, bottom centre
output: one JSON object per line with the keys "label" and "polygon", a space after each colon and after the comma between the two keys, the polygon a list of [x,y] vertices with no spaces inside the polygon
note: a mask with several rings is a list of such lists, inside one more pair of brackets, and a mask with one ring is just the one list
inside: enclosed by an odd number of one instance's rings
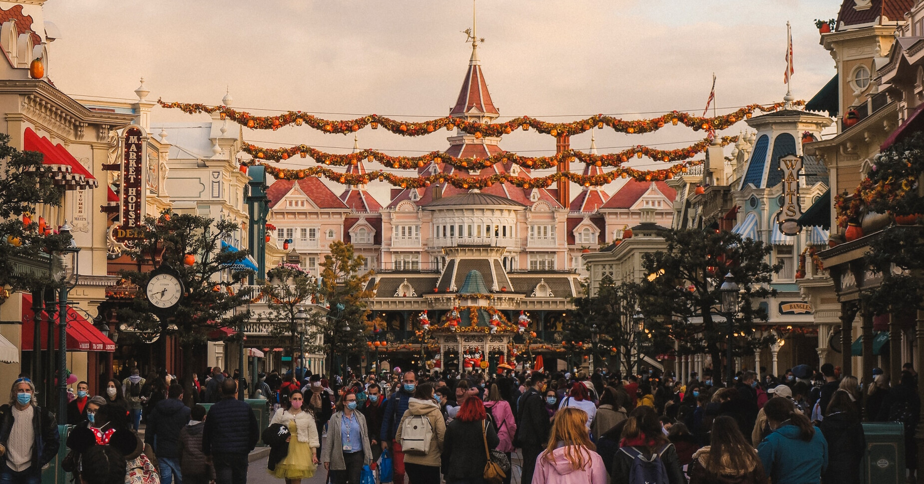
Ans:
{"label": "woman with long ginger hair in pale pink jacket, bottom centre", "polygon": [[536,459],[532,484],[606,484],[606,467],[596,449],[587,432],[587,412],[559,409],[549,445]]}

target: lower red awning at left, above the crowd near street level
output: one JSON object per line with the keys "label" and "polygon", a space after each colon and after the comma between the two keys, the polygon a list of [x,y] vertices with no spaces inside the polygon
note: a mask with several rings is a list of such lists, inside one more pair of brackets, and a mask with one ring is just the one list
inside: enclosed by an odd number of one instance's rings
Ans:
{"label": "lower red awning at left, above the crowd near street level", "polygon": [[[48,320],[48,314],[42,312],[44,321]],[[41,325],[42,341],[39,342],[41,349],[47,349],[48,324],[43,321]],[[57,341],[57,314],[55,314],[55,347]],[[22,295],[22,349],[31,351],[35,332],[35,313],[32,312],[32,296]],[[107,338],[100,330],[87,321],[71,307],[67,307],[67,350],[68,351],[116,351],[116,344]]]}

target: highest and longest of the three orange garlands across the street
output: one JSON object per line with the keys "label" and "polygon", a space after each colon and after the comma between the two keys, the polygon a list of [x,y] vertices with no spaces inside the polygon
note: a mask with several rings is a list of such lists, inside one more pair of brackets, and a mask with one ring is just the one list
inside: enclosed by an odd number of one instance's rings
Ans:
{"label": "highest and longest of the three orange garlands across the street", "polygon": [[[671,111],[660,116],[649,119],[625,120],[608,115],[592,115],[585,119],[571,121],[568,123],[548,123],[540,119],[533,119],[529,116],[515,117],[504,123],[479,123],[467,121],[460,117],[444,116],[429,121],[407,122],[392,119],[380,115],[360,116],[356,119],[346,120],[329,120],[323,119],[301,111],[288,111],[282,115],[251,115],[245,111],[237,111],[225,105],[208,106],[201,103],[164,103],[158,99],[157,103],[164,108],[179,109],[189,115],[196,113],[219,113],[222,119],[231,119],[237,124],[252,129],[278,129],[288,125],[302,126],[307,125],[324,133],[347,134],[359,131],[363,127],[370,126],[377,129],[379,126],[401,136],[423,136],[428,135],[438,129],[446,128],[449,131],[458,128],[459,130],[481,138],[482,136],[500,137],[508,135],[517,128],[529,130],[533,128],[542,134],[558,136],[574,136],[593,127],[602,129],[604,126],[611,127],[619,133],[650,133],[666,125],[682,124],[686,127],[693,128],[694,131],[699,129],[724,129],[749,118],[755,112],[771,113],[784,107],[784,103],[772,103],[768,105],[749,104],[742,107],[734,113],[727,115],[718,115],[713,117],[703,117],[689,113],[680,113]],[[796,106],[804,105],[804,101],[796,101]]]}

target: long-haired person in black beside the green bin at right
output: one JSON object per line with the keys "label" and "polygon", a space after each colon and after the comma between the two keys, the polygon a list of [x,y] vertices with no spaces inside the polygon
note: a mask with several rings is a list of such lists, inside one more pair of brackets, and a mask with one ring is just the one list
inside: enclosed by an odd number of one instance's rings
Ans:
{"label": "long-haired person in black beside the green bin at right", "polygon": [[825,409],[827,417],[819,427],[828,441],[828,467],[821,473],[824,482],[858,484],[862,472],[860,462],[866,454],[866,438],[857,405],[845,391],[834,392]]}

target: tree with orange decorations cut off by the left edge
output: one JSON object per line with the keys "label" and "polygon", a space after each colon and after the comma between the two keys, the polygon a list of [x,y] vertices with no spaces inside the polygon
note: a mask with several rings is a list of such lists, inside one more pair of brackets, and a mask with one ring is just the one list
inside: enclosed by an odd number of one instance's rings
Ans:
{"label": "tree with orange decorations cut off by the left edge", "polygon": [[0,287],[8,285],[11,292],[54,284],[47,277],[15,271],[14,259],[38,259],[70,243],[70,237],[58,235],[54,227],[48,235],[38,217],[28,217],[30,224],[23,221],[22,216],[35,212],[39,204],[56,207],[61,203],[64,190],[55,186],[42,161],[42,153],[18,151],[9,145],[9,135],[0,133]]}

